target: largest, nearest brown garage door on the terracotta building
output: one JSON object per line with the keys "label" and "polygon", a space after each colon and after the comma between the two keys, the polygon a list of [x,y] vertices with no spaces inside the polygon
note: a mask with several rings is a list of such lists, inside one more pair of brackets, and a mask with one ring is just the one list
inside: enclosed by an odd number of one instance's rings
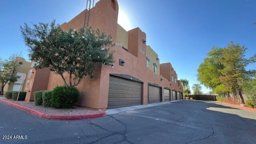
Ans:
{"label": "largest, nearest brown garage door on the terracotta building", "polygon": [[110,76],[108,109],[142,104],[142,83]]}

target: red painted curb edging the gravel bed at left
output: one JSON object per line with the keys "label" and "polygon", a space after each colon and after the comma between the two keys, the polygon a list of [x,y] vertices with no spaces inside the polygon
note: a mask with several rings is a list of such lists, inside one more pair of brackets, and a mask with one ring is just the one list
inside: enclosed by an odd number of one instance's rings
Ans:
{"label": "red painted curb edging the gravel bed at left", "polygon": [[32,108],[22,106],[20,104],[15,104],[13,102],[9,102],[4,99],[0,99],[0,102],[6,103],[6,104],[9,104],[10,106],[14,106],[16,108],[24,110],[30,114],[38,116],[39,118],[45,118],[45,119],[50,119],[50,120],[81,120],[81,119],[89,119],[89,118],[99,118],[99,117],[106,115],[105,110],[100,110],[100,112],[98,112],[96,114],[84,114],[84,115],[73,115],[73,116],[51,115],[51,114],[45,114],[45,113],[39,112]]}

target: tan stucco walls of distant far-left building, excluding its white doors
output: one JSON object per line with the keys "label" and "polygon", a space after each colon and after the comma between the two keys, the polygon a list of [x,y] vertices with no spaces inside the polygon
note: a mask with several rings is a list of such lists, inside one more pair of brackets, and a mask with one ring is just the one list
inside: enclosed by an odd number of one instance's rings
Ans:
{"label": "tan stucco walls of distant far-left building, excluding its white doors", "polygon": [[[22,62],[22,64],[19,64],[19,62]],[[31,64],[31,62],[26,61],[24,58],[22,58],[22,57],[16,57],[15,72],[14,72],[15,75],[16,75],[18,72],[20,72],[20,73],[26,74],[26,77],[27,77],[28,68],[30,67],[30,64]],[[14,84],[20,86],[20,84],[18,84],[18,83],[10,82],[9,84],[6,84],[6,85],[4,86],[4,93],[5,93],[6,91],[12,90]],[[23,84],[22,84],[21,90],[24,90],[24,86],[25,86],[25,80],[24,80],[24,82],[23,82]]]}

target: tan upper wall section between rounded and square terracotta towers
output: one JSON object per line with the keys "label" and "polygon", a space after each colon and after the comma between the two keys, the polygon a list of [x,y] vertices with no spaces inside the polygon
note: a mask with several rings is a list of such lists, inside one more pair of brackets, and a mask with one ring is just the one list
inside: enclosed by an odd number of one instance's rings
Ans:
{"label": "tan upper wall section between rounded and square terracotta towers", "polygon": [[117,24],[116,43],[128,50],[128,38],[129,32],[127,32],[124,28],[122,28],[122,26]]}

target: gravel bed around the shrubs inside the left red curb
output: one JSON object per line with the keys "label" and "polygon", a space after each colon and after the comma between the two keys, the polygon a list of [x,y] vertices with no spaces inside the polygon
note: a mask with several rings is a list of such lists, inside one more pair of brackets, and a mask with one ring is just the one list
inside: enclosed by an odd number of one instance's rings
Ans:
{"label": "gravel bed around the shrubs inside the left red curb", "polygon": [[[5,100],[8,100],[4,98]],[[60,115],[60,116],[65,116],[65,115],[84,115],[84,114],[95,114],[100,112],[99,110],[91,110],[88,108],[82,108],[79,106],[74,106],[74,108],[69,108],[69,109],[56,109],[56,108],[46,108],[43,106],[36,106],[34,102],[26,102],[26,101],[14,101],[14,100],[8,100],[10,102],[20,104],[22,106],[26,106],[28,108],[32,108],[34,110],[40,111],[45,114],[52,114],[52,115]]]}

